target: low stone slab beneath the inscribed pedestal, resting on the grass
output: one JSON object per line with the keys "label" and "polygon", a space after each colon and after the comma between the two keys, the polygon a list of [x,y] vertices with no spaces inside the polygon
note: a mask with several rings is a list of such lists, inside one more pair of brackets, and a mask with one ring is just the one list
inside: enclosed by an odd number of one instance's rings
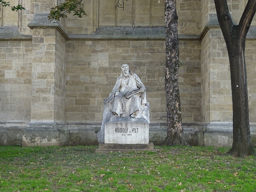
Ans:
{"label": "low stone slab beneath the inscribed pedestal, resting on the grass", "polygon": [[99,144],[99,148],[95,153],[110,153],[110,152],[126,152],[126,151],[155,151],[153,143],[149,144]]}

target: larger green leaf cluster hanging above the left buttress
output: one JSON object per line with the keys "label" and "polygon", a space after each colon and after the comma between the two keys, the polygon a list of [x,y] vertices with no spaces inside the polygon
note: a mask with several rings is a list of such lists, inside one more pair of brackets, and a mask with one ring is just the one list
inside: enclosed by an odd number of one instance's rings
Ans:
{"label": "larger green leaf cluster hanging above the left buttress", "polygon": [[87,16],[85,11],[83,10],[83,4],[81,3],[83,0],[66,0],[64,3],[51,8],[48,19],[50,20],[58,20],[60,18],[68,17],[67,14],[73,13],[73,16],[82,17],[82,15]]}

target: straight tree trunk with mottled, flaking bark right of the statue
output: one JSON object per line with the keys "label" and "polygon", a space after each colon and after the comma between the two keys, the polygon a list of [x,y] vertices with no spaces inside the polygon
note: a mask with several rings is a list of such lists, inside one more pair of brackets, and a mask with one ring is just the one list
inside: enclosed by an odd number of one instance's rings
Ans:
{"label": "straight tree trunk with mottled, flaking bark right of the statue", "polygon": [[178,89],[179,44],[176,0],[165,0],[167,138],[165,145],[183,145],[180,95]]}

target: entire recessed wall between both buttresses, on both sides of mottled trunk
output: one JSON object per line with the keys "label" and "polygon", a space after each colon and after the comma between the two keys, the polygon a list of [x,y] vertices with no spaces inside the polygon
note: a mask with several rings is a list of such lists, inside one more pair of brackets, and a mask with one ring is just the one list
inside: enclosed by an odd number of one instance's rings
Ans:
{"label": "entire recessed wall between both buttresses, on both sides of mottled trunk", "polygon": [[[182,119],[200,122],[200,42],[181,41],[180,61]],[[166,123],[165,41],[68,41],[66,122],[101,122],[125,63],[146,87],[151,122]]]}

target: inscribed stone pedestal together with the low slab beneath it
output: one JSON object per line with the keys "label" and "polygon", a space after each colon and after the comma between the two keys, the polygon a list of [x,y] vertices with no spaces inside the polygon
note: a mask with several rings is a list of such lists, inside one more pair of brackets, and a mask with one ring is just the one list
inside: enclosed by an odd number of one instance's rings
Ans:
{"label": "inscribed stone pedestal together with the low slab beneath it", "polygon": [[149,123],[144,118],[111,118],[105,123],[105,143],[96,153],[111,151],[156,151],[149,143]]}

